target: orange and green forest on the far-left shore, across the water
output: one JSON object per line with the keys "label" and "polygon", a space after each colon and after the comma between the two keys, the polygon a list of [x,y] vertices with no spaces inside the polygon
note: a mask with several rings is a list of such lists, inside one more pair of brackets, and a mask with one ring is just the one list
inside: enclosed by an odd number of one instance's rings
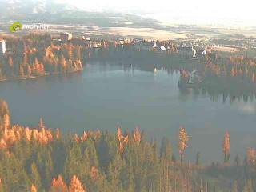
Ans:
{"label": "orange and green forest on the far-left shore, across the water", "polygon": [[36,78],[82,70],[81,46],[55,46],[48,34],[7,36],[6,54],[0,55],[0,81]]}

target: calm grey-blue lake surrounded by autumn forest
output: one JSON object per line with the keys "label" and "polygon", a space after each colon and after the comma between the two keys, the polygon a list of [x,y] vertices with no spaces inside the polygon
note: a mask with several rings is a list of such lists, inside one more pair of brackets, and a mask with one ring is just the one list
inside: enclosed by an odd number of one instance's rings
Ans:
{"label": "calm grey-blue lake surrounded by autumn forest", "polygon": [[77,74],[0,83],[0,98],[10,105],[12,122],[37,126],[43,118],[47,127],[71,130],[146,130],[148,138],[161,142],[169,137],[178,158],[176,138],[180,126],[189,133],[186,160],[222,162],[222,140],[230,132],[231,161],[241,158],[246,147],[256,147],[256,102],[222,99],[177,87],[179,72],[126,70],[123,66],[90,62]]}

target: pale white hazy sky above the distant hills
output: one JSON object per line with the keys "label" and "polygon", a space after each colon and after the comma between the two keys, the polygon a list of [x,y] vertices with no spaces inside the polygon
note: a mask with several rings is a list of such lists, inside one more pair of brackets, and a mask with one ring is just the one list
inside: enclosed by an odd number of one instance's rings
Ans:
{"label": "pale white hazy sky above the distant hills", "polygon": [[[72,3],[81,8],[92,8],[101,10],[102,7],[109,7],[111,10],[130,11],[134,13],[139,10],[147,13],[150,18],[158,18],[168,21],[170,18],[183,17],[184,20],[201,18],[208,22],[214,22],[225,18],[242,20],[243,22],[256,23],[256,1],[255,0],[58,0],[59,2]],[[209,21],[212,19],[213,21]],[[250,21],[249,21],[250,20]]]}

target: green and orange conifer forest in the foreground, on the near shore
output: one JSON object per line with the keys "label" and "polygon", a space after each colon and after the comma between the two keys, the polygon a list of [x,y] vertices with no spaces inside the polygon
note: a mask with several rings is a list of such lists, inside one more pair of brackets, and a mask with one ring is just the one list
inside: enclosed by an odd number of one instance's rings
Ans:
{"label": "green and orange conifer forest in the foreground, on the near shore", "polygon": [[[177,138],[162,143],[146,139],[146,132],[116,133],[85,130],[62,135],[42,118],[38,127],[12,125],[6,101],[0,101],[0,191],[242,191],[256,190],[255,150],[243,161],[230,162],[230,134],[223,135],[223,162],[203,165],[198,152],[186,162],[190,138],[179,128]],[[175,158],[171,142],[178,142]]]}

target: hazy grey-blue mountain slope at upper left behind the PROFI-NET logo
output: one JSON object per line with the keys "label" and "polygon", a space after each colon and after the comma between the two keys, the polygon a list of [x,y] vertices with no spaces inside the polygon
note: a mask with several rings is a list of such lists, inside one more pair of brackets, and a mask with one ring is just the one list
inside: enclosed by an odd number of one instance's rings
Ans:
{"label": "hazy grey-blue mountain slope at upper left behind the PROFI-NET logo", "polygon": [[7,29],[12,22],[154,29],[162,27],[160,22],[152,18],[113,10],[82,10],[54,0],[0,0],[0,5],[0,22],[4,24],[2,30]]}

